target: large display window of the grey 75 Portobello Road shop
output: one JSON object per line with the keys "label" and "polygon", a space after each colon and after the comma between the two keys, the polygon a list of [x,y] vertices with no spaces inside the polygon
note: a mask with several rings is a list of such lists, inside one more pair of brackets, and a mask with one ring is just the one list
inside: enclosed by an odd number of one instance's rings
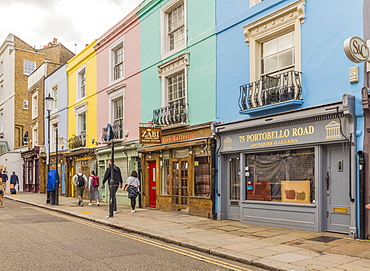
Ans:
{"label": "large display window of the grey 75 Portobello Road shop", "polygon": [[315,202],[314,148],[246,155],[246,199]]}

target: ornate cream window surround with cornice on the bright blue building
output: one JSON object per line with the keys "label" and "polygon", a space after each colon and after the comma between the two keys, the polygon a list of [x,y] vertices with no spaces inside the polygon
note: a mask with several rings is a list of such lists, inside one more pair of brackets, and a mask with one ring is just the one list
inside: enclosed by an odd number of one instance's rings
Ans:
{"label": "ornate cream window surround with cornice on the bright blue building", "polygon": [[249,45],[250,81],[260,79],[262,43],[288,31],[294,31],[294,70],[301,71],[301,24],[305,19],[304,0],[294,2],[244,26]]}

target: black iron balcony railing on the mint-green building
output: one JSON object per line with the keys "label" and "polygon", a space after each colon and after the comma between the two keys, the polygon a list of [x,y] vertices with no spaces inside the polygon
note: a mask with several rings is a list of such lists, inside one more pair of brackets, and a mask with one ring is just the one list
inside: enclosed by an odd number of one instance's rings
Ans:
{"label": "black iron balcony railing on the mint-green building", "polygon": [[156,125],[186,124],[188,122],[187,104],[173,103],[153,110],[152,123]]}

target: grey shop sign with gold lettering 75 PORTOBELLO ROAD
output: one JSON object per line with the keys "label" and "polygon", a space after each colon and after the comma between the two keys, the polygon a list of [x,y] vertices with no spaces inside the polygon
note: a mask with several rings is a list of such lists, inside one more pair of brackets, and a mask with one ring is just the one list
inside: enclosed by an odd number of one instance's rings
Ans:
{"label": "grey shop sign with gold lettering 75 PORTOBELLO ROAD", "polygon": [[290,146],[343,140],[337,120],[310,122],[275,129],[232,133],[222,136],[222,151]]}

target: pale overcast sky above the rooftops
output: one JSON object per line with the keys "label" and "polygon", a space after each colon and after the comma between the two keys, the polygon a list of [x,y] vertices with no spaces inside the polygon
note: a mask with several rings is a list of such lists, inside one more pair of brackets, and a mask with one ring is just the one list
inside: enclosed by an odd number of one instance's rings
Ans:
{"label": "pale overcast sky above the rooftops", "polygon": [[[0,44],[14,34],[36,48],[57,38],[73,53],[99,38],[142,0],[0,0]],[[75,46],[77,44],[77,46]]]}

